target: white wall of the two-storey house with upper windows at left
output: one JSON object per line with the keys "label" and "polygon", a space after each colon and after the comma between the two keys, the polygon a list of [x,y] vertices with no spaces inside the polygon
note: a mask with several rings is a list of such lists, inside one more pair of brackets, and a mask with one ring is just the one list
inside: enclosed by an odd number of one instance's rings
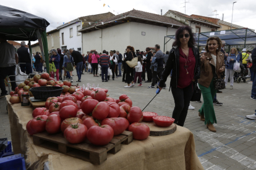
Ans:
{"label": "white wall of the two-storey house with upper windows at left", "polygon": [[[80,25],[80,22],[74,23],[72,25],[66,26],[65,28],[61,28],[59,30],[59,36],[61,37],[59,39],[59,43],[61,47],[67,46],[67,49],[74,48],[75,51],[77,51],[77,48],[82,48],[82,34],[80,33],[79,36],[77,36],[77,26]],[[73,37],[69,37],[69,29],[73,28]],[[64,33],[64,44],[62,44],[62,36],[61,34]],[[82,49],[83,52],[83,49]]]}

